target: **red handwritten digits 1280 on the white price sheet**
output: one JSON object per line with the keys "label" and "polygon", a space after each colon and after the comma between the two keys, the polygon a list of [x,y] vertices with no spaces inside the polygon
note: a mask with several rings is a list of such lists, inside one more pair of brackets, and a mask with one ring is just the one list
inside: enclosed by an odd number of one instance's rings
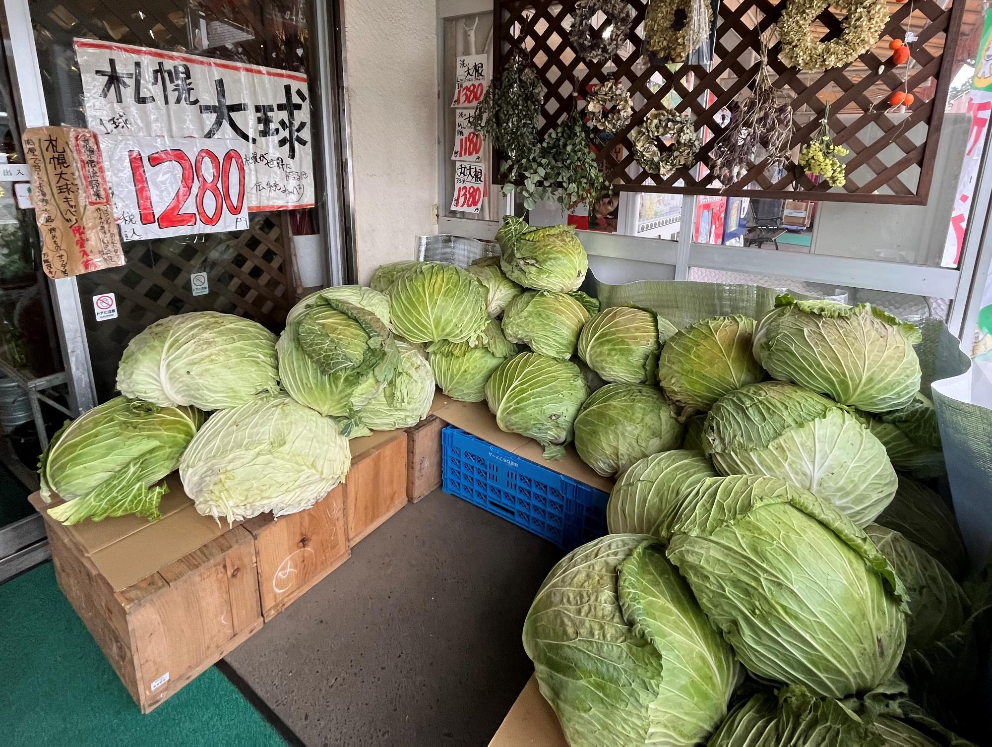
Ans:
{"label": "red handwritten digits 1280 on the white price sheet", "polygon": [[[128,151],[131,162],[131,176],[138,195],[138,213],[143,225],[157,223],[160,228],[177,228],[202,223],[216,225],[226,210],[230,215],[240,215],[245,201],[245,162],[241,154],[230,150],[221,158],[213,151],[203,149],[190,159],[179,149],[166,149],[148,155],[148,166],[152,170],[165,164],[180,167],[179,179],[170,175],[155,180],[156,196],[161,196],[160,187],[175,189],[172,199],[158,215],[152,200],[145,157],[141,151]],[[189,197],[195,196],[191,209],[186,210]]]}

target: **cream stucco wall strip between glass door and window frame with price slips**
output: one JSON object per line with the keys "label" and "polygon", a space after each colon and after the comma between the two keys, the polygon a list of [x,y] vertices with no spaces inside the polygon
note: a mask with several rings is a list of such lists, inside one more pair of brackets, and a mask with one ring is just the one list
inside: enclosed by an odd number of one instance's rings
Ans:
{"label": "cream stucco wall strip between glass door and window frame with price slips", "polygon": [[344,0],[358,282],[434,233],[434,0]]}

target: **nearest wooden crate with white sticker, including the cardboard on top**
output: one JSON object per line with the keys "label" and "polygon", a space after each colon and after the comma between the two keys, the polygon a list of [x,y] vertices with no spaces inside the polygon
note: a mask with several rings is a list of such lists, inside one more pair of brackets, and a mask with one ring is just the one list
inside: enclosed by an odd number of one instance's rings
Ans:
{"label": "nearest wooden crate with white sticker, including the cardboard on top", "polygon": [[132,516],[63,527],[48,517],[56,504],[30,498],[45,518],[62,592],[143,713],[262,627],[252,536],[196,514],[176,476],[170,481],[153,523]]}

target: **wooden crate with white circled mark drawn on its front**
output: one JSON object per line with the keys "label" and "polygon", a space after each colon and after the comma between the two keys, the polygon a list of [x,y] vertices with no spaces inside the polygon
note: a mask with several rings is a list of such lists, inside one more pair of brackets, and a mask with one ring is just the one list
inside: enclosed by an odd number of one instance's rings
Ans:
{"label": "wooden crate with white circled mark drawn on its front", "polygon": [[351,556],[344,523],[344,485],[307,511],[244,523],[255,540],[258,586],[265,621],[286,609]]}

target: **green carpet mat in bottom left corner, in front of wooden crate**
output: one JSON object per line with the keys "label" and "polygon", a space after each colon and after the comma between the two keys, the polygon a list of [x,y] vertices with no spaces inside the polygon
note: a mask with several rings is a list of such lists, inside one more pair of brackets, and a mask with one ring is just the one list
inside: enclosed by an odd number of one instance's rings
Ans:
{"label": "green carpet mat in bottom left corner, in front of wooden crate", "polygon": [[142,715],[56,583],[52,563],[0,586],[0,742],[285,747],[211,667]]}

